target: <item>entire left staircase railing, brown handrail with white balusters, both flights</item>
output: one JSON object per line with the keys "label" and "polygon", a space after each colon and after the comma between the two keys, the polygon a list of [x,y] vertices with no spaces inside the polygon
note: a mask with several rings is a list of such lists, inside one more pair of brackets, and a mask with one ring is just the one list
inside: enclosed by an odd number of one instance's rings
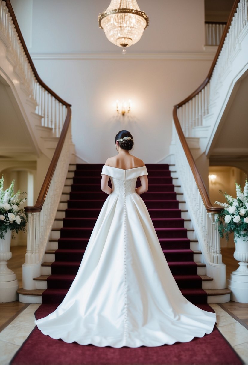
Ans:
{"label": "entire left staircase railing, brown handrail with white balusters, both flights", "polygon": [[5,37],[8,58],[11,59],[16,74],[21,74],[21,80],[25,80],[25,92],[37,104],[36,113],[42,116],[42,126],[51,127],[54,135],[60,136],[36,204],[25,207],[28,213],[28,237],[23,265],[23,288],[35,289],[33,278],[40,276],[41,260],[71,158],[71,105],[40,79],[9,0],[0,0],[0,31]]}

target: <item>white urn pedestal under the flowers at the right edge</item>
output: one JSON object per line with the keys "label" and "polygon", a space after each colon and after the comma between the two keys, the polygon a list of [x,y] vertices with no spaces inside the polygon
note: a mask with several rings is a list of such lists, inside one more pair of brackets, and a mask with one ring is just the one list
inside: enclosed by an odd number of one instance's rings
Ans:
{"label": "white urn pedestal under the flowers at the right edge", "polygon": [[234,242],[233,257],[239,261],[239,267],[231,273],[228,288],[232,291],[231,300],[248,303],[248,232],[246,237],[240,238],[234,234]]}

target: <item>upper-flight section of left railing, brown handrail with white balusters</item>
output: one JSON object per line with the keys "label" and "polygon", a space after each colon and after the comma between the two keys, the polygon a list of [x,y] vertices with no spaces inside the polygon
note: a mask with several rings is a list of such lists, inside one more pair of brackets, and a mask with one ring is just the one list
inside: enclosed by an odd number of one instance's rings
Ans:
{"label": "upper-flight section of left railing, brown handrail with white balusters", "polygon": [[0,32],[8,47],[7,55],[21,81],[21,88],[36,103],[36,113],[41,125],[53,129],[59,137],[63,128],[67,107],[71,105],[53,92],[39,77],[25,45],[15,13],[9,0],[0,0]]}

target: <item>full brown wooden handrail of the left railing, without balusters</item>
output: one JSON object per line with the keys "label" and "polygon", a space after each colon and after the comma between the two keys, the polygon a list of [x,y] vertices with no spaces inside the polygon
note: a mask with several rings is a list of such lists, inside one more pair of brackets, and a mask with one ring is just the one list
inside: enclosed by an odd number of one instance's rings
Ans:
{"label": "full brown wooden handrail of the left railing, without balusters", "polygon": [[11,18],[13,20],[13,24],[16,28],[17,34],[19,36],[21,45],[23,46],[23,50],[24,50],[24,52],[27,56],[28,62],[30,64],[31,68],[32,68],[32,71],[35,75],[35,78],[36,78],[37,82],[39,82],[39,84],[45,90],[47,90],[49,92],[49,94],[51,94],[56,100],[58,100],[61,104],[65,105],[65,107],[67,108],[67,115],[65,117],[65,122],[64,122],[64,126],[62,128],[62,131],[61,131],[59,142],[58,142],[57,147],[55,149],[55,152],[53,154],[52,161],[49,165],[49,168],[48,168],[47,174],[45,176],[44,182],[42,184],[42,187],[41,187],[38,199],[36,201],[36,204],[33,207],[28,207],[27,206],[27,207],[24,208],[25,211],[28,212],[28,213],[35,213],[35,212],[40,212],[42,210],[42,207],[43,207],[43,204],[44,204],[44,201],[45,201],[45,197],[47,196],[48,189],[49,189],[49,186],[51,184],[52,177],[53,177],[53,174],[55,172],[57,162],[59,160],[60,153],[61,153],[61,150],[62,150],[63,145],[64,145],[65,137],[67,135],[67,131],[68,131],[68,128],[69,128],[69,125],[70,125],[70,122],[71,122],[71,104],[69,104],[66,101],[64,101],[63,99],[61,99],[61,97],[59,97],[54,91],[52,91],[39,77],[39,75],[36,71],[35,65],[33,64],[32,58],[31,58],[31,56],[28,52],[25,41],[23,39],[23,35],[21,34],[21,31],[20,31],[19,25],[17,23],[17,19],[16,19],[16,16],[15,16],[15,13],[13,11],[11,2],[10,2],[10,0],[5,0],[5,2],[6,2],[6,6],[8,8],[9,14],[11,15]]}

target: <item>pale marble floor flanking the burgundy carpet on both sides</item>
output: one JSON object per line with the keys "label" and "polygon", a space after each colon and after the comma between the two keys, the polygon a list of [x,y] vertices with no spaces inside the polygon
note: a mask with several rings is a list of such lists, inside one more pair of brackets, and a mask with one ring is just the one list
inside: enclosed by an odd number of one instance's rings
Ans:
{"label": "pale marble floor flanking the burgundy carpet on both sides", "polygon": [[[210,304],[217,315],[217,327],[222,335],[239,354],[244,364],[248,364],[248,329],[237,322],[218,304]],[[0,332],[0,364],[8,365],[16,351],[31,333],[34,313],[40,304],[29,304]]]}

